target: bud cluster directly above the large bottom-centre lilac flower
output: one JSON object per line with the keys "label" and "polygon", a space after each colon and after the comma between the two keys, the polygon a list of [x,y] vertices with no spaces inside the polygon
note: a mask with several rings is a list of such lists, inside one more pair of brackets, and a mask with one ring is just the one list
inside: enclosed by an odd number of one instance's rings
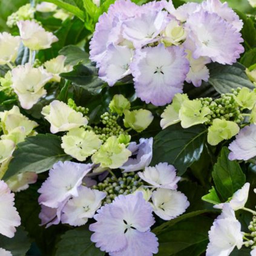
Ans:
{"label": "bud cluster directly above the large bottom-centre lilac flower", "polygon": [[102,183],[93,186],[93,189],[98,189],[107,193],[103,204],[111,203],[118,195],[128,195],[135,192],[143,185],[139,181],[140,177],[134,172],[125,172],[122,177],[107,177]]}

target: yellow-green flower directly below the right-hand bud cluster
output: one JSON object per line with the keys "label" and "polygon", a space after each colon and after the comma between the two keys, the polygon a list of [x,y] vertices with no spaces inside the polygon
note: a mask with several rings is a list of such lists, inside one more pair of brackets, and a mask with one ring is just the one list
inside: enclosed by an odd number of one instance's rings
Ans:
{"label": "yellow-green flower directly below the right-hand bud cluster", "polygon": [[212,146],[218,145],[222,140],[231,139],[238,134],[240,128],[237,123],[222,119],[214,119],[208,128],[208,143]]}

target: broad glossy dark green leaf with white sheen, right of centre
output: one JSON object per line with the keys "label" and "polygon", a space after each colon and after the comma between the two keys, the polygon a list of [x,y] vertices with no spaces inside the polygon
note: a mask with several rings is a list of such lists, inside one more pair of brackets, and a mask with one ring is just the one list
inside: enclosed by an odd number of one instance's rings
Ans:
{"label": "broad glossy dark green leaf with white sheen, right of centre", "polygon": [[192,163],[199,160],[206,131],[199,125],[183,129],[179,123],[160,131],[154,138],[151,165],[168,162],[176,167],[179,175],[184,174]]}

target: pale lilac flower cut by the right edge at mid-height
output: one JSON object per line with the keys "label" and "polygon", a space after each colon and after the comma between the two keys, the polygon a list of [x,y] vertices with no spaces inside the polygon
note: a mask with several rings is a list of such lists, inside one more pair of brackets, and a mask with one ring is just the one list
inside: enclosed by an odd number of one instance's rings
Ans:
{"label": "pale lilac flower cut by the right edge at mid-height", "polygon": [[249,160],[256,156],[256,125],[245,126],[229,144],[229,160]]}

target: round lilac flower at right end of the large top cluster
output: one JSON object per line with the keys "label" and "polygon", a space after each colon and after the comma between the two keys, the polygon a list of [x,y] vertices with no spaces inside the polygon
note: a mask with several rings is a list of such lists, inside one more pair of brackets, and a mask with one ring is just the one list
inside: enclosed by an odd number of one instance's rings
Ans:
{"label": "round lilac flower at right end of the large top cluster", "polygon": [[[188,39],[195,44],[192,53],[195,59],[204,56],[220,64],[232,64],[244,51],[241,34],[216,13],[203,10],[192,13],[186,21],[186,28]],[[185,47],[189,47],[186,42]]]}

